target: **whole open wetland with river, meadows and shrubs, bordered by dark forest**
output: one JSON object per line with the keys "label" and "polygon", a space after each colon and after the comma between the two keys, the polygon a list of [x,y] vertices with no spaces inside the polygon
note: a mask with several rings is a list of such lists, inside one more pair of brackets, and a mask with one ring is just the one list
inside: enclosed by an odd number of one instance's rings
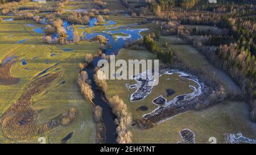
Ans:
{"label": "whole open wetland with river, meadows and shrubs, bordered by dark forest", "polygon": [[[0,143],[256,143],[243,88],[205,54],[219,52],[217,35],[230,32],[192,23],[191,8],[158,14],[151,5],[0,3]],[[97,79],[98,62],[111,55],[159,60],[158,84],[152,70]]]}

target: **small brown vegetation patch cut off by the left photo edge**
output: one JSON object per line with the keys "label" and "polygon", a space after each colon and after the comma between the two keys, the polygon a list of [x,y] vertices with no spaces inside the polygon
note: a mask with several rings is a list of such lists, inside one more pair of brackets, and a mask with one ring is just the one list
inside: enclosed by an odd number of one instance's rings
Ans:
{"label": "small brown vegetation patch cut off by the left photo edge", "polygon": [[14,85],[19,82],[19,78],[14,78],[10,74],[13,64],[14,61],[10,61],[0,66],[0,85]]}

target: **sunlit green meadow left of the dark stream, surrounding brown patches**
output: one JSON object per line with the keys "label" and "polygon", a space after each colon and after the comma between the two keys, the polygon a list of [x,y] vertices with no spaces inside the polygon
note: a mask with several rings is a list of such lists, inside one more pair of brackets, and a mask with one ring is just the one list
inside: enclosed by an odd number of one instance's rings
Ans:
{"label": "sunlit green meadow left of the dark stream, surrounding brown patches", "polygon": [[[35,80],[35,77],[47,68],[59,63],[48,70],[45,74],[60,72],[61,77],[33,99],[32,106],[40,111],[39,121],[46,122],[58,115],[61,115],[75,107],[77,118],[75,122],[67,127],[59,127],[44,135],[47,143],[60,143],[61,139],[69,132],[74,134],[69,140],[71,143],[94,143],[95,128],[92,118],[92,108],[90,104],[81,96],[76,83],[78,64],[84,60],[87,53],[96,53],[100,45],[81,41],[79,44],[48,45],[42,41],[42,33],[35,33],[34,28],[27,26],[27,23],[42,27],[32,20],[17,20],[3,22],[0,24],[0,49],[1,60],[15,55],[15,64],[11,68],[11,76],[20,78],[16,85],[0,85],[0,115],[3,114],[20,95],[26,90],[28,85]],[[27,39],[23,43],[18,41]],[[73,49],[72,52],[64,52],[63,49]],[[51,56],[54,54],[54,56]],[[25,58],[27,64],[22,65]],[[57,69],[57,70],[56,70]],[[44,76],[45,74],[42,74]],[[16,143],[0,136],[1,143]],[[33,140],[32,143],[38,143]]]}

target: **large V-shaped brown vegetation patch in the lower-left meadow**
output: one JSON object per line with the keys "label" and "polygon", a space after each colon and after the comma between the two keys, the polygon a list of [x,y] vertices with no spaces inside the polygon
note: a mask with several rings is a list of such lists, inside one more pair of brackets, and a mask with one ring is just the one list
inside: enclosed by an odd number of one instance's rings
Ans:
{"label": "large V-shaped brown vegetation patch in the lower-left meadow", "polygon": [[53,120],[39,123],[39,111],[32,107],[32,98],[59,77],[59,73],[53,73],[32,82],[22,96],[2,115],[2,131],[6,137],[18,141],[31,140],[59,125],[68,125],[75,119],[76,109],[71,108],[69,112]]}

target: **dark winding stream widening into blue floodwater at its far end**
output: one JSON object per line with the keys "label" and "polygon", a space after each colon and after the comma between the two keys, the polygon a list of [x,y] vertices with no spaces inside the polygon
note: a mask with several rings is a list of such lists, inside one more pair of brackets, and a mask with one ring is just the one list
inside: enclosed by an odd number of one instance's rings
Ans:
{"label": "dark winding stream widening into blue floodwater at its far end", "polygon": [[[133,41],[136,41],[138,39],[141,39],[142,36],[139,34],[141,31],[145,31],[147,29],[127,29],[123,30],[120,29],[118,31],[106,31],[108,33],[126,33],[129,35],[129,39],[125,37],[119,37],[118,39],[114,40],[112,35],[108,35],[107,33],[91,33],[86,34],[85,39],[91,39],[96,35],[103,35],[108,39],[108,43],[105,45],[104,53],[105,55],[117,55],[119,49],[122,49],[126,43],[132,43]],[[110,46],[111,45],[111,46]],[[93,79],[94,69],[97,66],[98,61],[101,60],[101,57],[94,58],[93,64],[86,66],[84,70],[88,73],[89,79],[92,81],[92,90],[94,92],[94,99],[93,102],[97,106],[102,107],[102,116],[104,120],[104,125],[106,129],[106,140],[105,143],[112,144],[117,143],[117,133],[115,132],[115,129],[117,128],[117,125],[114,123],[115,116],[112,113],[112,109],[108,106],[108,103],[102,99],[102,91],[96,89],[96,83]]]}

